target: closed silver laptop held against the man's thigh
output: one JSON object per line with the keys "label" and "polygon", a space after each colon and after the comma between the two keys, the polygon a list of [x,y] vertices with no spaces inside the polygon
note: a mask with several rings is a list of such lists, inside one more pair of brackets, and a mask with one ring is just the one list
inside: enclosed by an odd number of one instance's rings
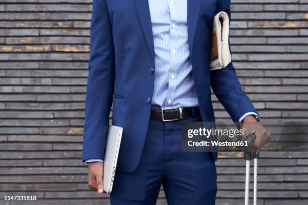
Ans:
{"label": "closed silver laptop held against the man's thigh", "polygon": [[104,190],[111,193],[123,128],[109,125],[104,159]]}

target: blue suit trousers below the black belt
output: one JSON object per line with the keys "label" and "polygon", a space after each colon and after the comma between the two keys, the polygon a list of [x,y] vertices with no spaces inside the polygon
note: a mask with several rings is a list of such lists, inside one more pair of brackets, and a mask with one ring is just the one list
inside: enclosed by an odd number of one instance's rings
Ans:
{"label": "blue suit trousers below the black belt", "polygon": [[[182,152],[182,123],[150,120],[140,162],[132,173],[116,172],[112,205],[156,204],[163,184],[170,205],[215,204],[216,167],[210,152]],[[129,154],[129,153],[127,153]]]}

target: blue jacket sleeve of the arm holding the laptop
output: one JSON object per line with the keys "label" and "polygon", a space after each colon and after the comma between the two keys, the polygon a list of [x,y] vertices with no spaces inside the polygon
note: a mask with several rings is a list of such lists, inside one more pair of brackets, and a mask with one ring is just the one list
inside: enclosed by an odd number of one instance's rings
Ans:
{"label": "blue jacket sleeve of the arm holding the laptop", "polygon": [[93,1],[83,161],[104,160],[112,105],[115,57],[105,0]]}

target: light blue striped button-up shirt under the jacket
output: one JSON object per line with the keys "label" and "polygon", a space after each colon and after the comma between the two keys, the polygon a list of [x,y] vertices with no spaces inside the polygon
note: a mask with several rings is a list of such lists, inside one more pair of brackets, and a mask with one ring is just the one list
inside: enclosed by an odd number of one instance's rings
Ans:
{"label": "light blue striped button-up shirt under the jacket", "polygon": [[152,108],[198,107],[188,47],[187,0],[148,0],[155,51]]}

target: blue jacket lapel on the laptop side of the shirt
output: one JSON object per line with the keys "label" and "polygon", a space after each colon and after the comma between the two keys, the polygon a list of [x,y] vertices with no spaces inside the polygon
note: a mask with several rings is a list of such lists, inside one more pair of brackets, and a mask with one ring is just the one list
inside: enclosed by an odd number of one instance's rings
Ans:
{"label": "blue jacket lapel on the laptop side of the shirt", "polygon": [[154,43],[153,43],[153,32],[152,32],[152,23],[148,7],[148,0],[134,0],[134,3],[147,46],[151,52],[152,58],[154,59],[155,53],[154,53]]}

